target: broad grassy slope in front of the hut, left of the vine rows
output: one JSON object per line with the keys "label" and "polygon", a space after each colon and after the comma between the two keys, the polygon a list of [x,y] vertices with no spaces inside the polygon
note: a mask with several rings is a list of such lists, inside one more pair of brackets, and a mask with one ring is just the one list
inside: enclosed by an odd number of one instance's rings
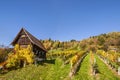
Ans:
{"label": "broad grassy slope in front of the hut, left of the vine rows", "polygon": [[68,76],[69,70],[69,65],[63,66],[62,61],[57,59],[55,64],[29,65],[10,71],[2,77],[4,76],[5,80],[61,80]]}

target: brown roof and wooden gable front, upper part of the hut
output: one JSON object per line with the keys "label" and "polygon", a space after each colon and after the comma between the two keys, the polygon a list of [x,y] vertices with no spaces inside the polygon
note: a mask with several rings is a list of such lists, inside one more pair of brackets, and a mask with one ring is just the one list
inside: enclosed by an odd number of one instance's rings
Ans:
{"label": "brown roof and wooden gable front, upper part of the hut", "polygon": [[19,44],[22,47],[26,47],[27,45],[32,44],[33,46],[36,46],[46,52],[46,49],[43,46],[43,44],[24,28],[20,30],[20,32],[17,34],[17,36],[11,44],[13,46],[15,44]]}

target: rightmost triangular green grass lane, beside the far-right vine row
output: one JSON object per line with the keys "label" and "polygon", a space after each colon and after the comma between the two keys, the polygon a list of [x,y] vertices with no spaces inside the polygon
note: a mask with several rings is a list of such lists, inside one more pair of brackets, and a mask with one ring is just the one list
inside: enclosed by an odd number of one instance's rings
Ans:
{"label": "rightmost triangular green grass lane, beside the far-right vine row", "polygon": [[99,70],[99,80],[120,80],[97,56],[96,62]]}

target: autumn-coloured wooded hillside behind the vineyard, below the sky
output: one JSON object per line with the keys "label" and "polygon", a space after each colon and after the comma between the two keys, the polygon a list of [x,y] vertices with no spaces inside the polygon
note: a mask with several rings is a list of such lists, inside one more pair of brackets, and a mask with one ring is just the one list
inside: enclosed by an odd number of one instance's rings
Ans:
{"label": "autumn-coloured wooded hillside behind the vineyard, below the sky", "polygon": [[59,41],[46,39],[41,40],[47,50],[51,49],[83,49],[96,51],[97,49],[103,49],[105,51],[115,49],[120,52],[120,32],[110,32],[100,34],[98,36],[91,36],[88,39],[81,41],[70,40],[70,41]]}

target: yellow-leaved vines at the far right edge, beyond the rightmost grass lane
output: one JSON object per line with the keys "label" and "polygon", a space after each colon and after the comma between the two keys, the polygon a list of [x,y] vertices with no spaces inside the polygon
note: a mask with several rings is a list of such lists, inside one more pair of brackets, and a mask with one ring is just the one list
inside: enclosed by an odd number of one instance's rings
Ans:
{"label": "yellow-leaved vines at the far right edge, beyond the rightmost grass lane", "polygon": [[96,52],[100,58],[104,60],[104,62],[108,65],[110,65],[113,69],[116,71],[118,70],[118,67],[120,66],[120,53],[115,51],[107,51],[104,50],[97,50]]}

